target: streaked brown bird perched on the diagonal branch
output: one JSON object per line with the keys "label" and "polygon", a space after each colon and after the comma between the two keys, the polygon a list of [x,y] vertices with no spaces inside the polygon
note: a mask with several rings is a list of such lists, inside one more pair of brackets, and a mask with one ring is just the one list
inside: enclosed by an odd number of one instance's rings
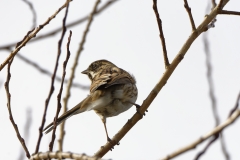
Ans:
{"label": "streaked brown bird perched on the diagonal branch", "polygon": [[[91,81],[90,94],[69,111],[57,118],[57,125],[73,115],[94,110],[104,124],[107,141],[111,141],[106,127],[106,118],[117,116],[135,104],[138,96],[136,80],[133,75],[117,67],[110,61],[97,60],[81,72]],[[50,123],[43,130],[45,134],[53,130]]]}

